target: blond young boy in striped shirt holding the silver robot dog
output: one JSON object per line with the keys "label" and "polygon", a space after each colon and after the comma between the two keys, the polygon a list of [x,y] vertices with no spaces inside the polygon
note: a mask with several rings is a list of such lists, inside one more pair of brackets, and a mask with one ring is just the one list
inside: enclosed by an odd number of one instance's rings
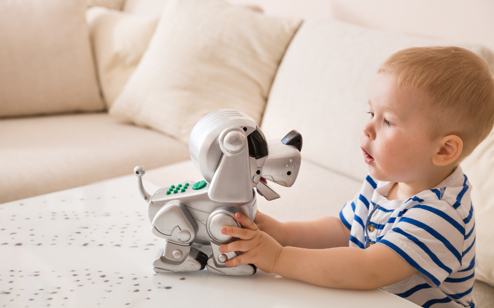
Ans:
{"label": "blond young boy in striped shirt holding the silver robot dog", "polygon": [[476,307],[475,218],[459,163],[494,126],[487,64],[459,47],[419,47],[379,68],[361,135],[369,176],[339,218],[224,226],[244,251],[227,266],[333,288],[385,290],[422,307]]}

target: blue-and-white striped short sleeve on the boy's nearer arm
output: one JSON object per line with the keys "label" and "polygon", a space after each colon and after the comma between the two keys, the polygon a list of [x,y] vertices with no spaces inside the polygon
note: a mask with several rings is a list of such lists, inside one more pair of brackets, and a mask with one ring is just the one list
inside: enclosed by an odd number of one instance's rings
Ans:
{"label": "blue-and-white striped short sleeve on the boy's nearer arm", "polygon": [[442,200],[409,209],[379,243],[417,269],[433,287],[461,268],[464,223]]}

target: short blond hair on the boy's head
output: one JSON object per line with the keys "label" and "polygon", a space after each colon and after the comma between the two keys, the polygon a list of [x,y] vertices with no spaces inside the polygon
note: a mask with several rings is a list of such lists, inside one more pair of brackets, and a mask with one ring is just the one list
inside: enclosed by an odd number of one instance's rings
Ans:
{"label": "short blond hair on the boy's head", "polygon": [[454,46],[412,47],[392,54],[378,73],[398,84],[425,90],[432,98],[432,137],[454,134],[463,141],[458,162],[484,140],[494,126],[494,79],[474,52]]}

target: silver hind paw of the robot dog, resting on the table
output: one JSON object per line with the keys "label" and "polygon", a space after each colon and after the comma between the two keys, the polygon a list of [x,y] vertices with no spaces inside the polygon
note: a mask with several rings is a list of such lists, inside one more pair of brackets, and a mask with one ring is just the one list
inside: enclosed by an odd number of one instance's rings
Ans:
{"label": "silver hind paw of the robot dog, resting on the table", "polygon": [[191,248],[189,255],[182,263],[166,260],[163,253],[164,250],[160,250],[153,261],[153,269],[157,273],[196,271],[206,267],[207,255],[197,248]]}

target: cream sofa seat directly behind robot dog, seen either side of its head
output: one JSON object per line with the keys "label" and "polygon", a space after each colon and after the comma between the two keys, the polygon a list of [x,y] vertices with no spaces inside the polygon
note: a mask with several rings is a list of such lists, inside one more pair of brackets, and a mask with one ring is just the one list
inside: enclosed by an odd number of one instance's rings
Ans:
{"label": "cream sofa seat directly behind robot dog, seen either side of its head", "polygon": [[[203,177],[192,161],[188,160],[147,171],[143,179],[165,187],[181,181],[199,181]],[[257,207],[259,211],[281,221],[337,216],[343,205],[360,190],[363,181],[364,179],[357,181],[302,160],[293,186],[283,187],[268,181],[281,198],[267,201],[257,195]]]}

